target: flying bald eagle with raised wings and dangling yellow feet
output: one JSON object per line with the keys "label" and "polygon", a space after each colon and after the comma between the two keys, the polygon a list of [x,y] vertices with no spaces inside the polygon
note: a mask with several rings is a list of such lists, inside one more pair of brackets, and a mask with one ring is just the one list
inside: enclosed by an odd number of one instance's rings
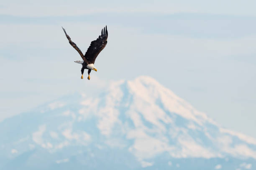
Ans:
{"label": "flying bald eagle with raised wings and dangling yellow feet", "polygon": [[96,60],[96,57],[99,55],[99,53],[103,50],[103,48],[107,45],[107,39],[108,39],[108,30],[107,30],[107,25],[104,27],[104,30],[101,30],[101,35],[97,38],[97,40],[94,40],[91,42],[90,47],[87,49],[87,52],[83,55],[82,51],[77,47],[77,45],[72,42],[70,39],[69,35],[67,35],[67,32],[65,29],[62,27],[64,30],[67,39],[69,40],[69,44],[74,47],[74,49],[77,50],[77,52],[81,55],[83,61],[74,61],[77,63],[82,64],[82,76],[81,79],[83,79],[83,74],[84,74],[84,69],[88,69],[88,77],[87,79],[90,80],[90,72],[92,70],[97,71],[97,69],[94,67],[94,62]]}

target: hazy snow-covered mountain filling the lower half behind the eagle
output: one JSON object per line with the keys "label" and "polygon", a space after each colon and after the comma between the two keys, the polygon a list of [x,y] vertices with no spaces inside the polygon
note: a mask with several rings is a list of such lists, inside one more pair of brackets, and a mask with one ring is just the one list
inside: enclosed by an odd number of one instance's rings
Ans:
{"label": "hazy snow-covered mountain filling the lower half behind the eagle", "polygon": [[146,76],[0,122],[0,170],[255,167],[256,139],[222,128]]}

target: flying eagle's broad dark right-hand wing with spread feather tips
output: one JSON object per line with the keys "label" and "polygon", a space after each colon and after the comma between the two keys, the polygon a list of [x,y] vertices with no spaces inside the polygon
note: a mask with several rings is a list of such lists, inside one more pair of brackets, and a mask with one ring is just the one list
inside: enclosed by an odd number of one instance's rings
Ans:
{"label": "flying eagle's broad dark right-hand wing with spread feather tips", "polygon": [[87,49],[87,52],[84,55],[84,57],[86,58],[86,60],[88,60],[89,63],[94,64],[96,57],[107,45],[107,39],[108,39],[108,30],[106,25],[106,29],[104,28],[104,30],[103,29],[101,30],[101,35],[97,38],[97,40],[94,40],[91,42],[90,47]]}

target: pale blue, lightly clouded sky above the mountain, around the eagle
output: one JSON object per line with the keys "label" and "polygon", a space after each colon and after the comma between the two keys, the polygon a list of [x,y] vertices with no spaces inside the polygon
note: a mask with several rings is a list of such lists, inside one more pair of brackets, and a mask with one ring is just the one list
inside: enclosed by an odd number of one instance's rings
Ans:
{"label": "pale blue, lightly clouded sky above the mountain, around the eagle", "polygon": [[[256,137],[256,2],[5,1],[0,3],[0,121],[110,81],[154,77],[226,128]],[[108,25],[97,73],[85,52]],[[88,90],[90,87],[90,90]]]}

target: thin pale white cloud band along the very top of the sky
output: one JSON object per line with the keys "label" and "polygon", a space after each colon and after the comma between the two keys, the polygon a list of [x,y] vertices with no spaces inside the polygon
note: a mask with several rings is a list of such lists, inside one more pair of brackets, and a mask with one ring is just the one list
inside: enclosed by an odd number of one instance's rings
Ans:
{"label": "thin pale white cloud band along the very top of the sky", "polygon": [[[13,1],[12,1],[13,2]],[[189,0],[181,1],[36,1],[20,3],[18,0],[3,2],[0,14],[17,15],[17,16],[78,16],[93,13],[211,13],[211,14],[228,14],[228,15],[256,15],[253,9],[255,2],[248,0],[246,4],[240,0],[226,0],[225,2]],[[219,5],[221,3],[221,6]],[[77,5],[79,4],[79,5]],[[232,7],[230,8],[230,5]],[[241,6],[244,8],[241,8]]]}

